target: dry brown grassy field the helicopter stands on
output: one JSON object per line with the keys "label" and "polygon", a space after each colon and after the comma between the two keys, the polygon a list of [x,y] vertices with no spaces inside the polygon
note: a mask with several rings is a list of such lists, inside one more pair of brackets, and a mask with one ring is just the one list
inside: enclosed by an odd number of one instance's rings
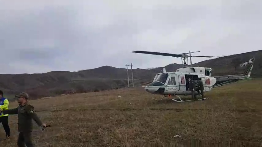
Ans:
{"label": "dry brown grassy field the helicopter stands on", "polygon": [[[45,131],[36,127],[34,142],[39,147],[261,145],[261,89],[261,79],[242,81],[213,89],[208,100],[185,103],[157,102],[152,97],[161,96],[143,88],[32,100],[43,122],[52,125]],[[17,116],[9,121],[11,140],[1,147],[16,146]]]}

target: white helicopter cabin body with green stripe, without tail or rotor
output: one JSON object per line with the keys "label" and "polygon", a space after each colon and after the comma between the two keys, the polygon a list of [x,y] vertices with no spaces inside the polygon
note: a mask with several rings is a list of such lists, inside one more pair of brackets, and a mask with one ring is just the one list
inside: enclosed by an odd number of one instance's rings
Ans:
{"label": "white helicopter cabin body with green stripe, without tail or rotor", "polygon": [[180,68],[176,72],[165,72],[157,74],[154,81],[145,86],[144,89],[152,94],[184,96],[191,95],[191,91],[188,89],[188,78],[190,77],[194,81],[197,81],[198,78],[201,78],[204,86],[204,92],[208,92],[211,91],[212,86],[216,83],[216,78],[210,77],[210,75],[211,68]]}

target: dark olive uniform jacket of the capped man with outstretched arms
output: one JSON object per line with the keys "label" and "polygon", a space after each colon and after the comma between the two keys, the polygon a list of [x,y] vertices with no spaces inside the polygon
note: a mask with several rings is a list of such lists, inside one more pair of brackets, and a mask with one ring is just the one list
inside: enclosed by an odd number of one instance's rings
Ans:
{"label": "dark olive uniform jacket of the capped man with outstretched arms", "polygon": [[18,116],[18,131],[19,132],[31,132],[33,130],[32,119],[38,126],[42,125],[41,120],[34,111],[34,107],[29,104],[19,105],[17,108],[3,110],[4,114],[17,114]]}

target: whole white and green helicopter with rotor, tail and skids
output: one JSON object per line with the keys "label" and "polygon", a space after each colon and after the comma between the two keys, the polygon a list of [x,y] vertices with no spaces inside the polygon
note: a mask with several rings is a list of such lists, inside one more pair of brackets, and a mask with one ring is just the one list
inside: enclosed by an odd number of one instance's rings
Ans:
{"label": "whole white and green helicopter with rotor, tail and skids", "polygon": [[[200,52],[200,51],[196,51],[196,52]],[[182,54],[170,54],[170,53],[151,52],[151,51],[132,51],[132,53],[162,55],[162,56],[181,58],[184,64],[183,68],[179,68],[175,72],[166,72],[166,69],[163,68],[162,70],[163,72],[161,71],[160,73],[156,74],[154,80],[150,84],[144,86],[144,89],[149,93],[156,94],[156,95],[164,95],[161,98],[161,100],[163,100],[164,97],[170,97],[170,96],[178,97],[178,100],[176,100],[175,98],[172,99],[175,102],[192,101],[192,100],[183,100],[185,96],[191,95],[191,91],[189,90],[189,81],[188,81],[189,78],[191,78],[195,82],[197,82],[198,78],[200,78],[204,86],[203,92],[205,93],[211,91],[212,88],[250,78],[250,74],[253,69],[253,61],[254,61],[254,57],[253,57],[248,62],[240,64],[240,67],[246,67],[243,74],[214,77],[211,76],[212,68],[192,67],[192,59],[191,59],[191,57],[212,58],[214,56],[192,56],[191,54],[195,52],[190,52],[190,51]],[[190,63],[191,63],[190,66],[188,66],[187,64],[188,57],[190,58]],[[198,92],[195,91],[195,94],[198,94]],[[206,98],[204,98],[204,100],[205,99]],[[161,100],[157,100],[157,101],[161,101]],[[202,99],[198,99],[198,100],[202,100]]]}

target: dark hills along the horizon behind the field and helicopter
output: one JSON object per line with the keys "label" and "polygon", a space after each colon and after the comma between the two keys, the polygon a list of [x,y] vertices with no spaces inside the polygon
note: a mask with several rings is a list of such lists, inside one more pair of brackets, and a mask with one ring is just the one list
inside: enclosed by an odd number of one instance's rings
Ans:
{"label": "dark hills along the horizon behind the field and helicopter", "polygon": [[[262,50],[205,60],[192,66],[211,67],[213,76],[241,74],[240,66],[235,69],[235,64],[246,62],[252,57],[255,57],[255,63],[251,76],[262,77]],[[183,64],[176,63],[164,66],[167,72],[174,72],[182,67]],[[134,85],[139,86],[152,81],[162,69],[163,67],[133,69]],[[75,72],[52,71],[43,74],[0,74],[0,88],[10,94],[25,91],[32,98],[118,89],[128,85],[126,72],[125,68],[102,66]],[[129,73],[131,73],[130,69]],[[132,86],[131,74],[129,74],[129,80],[130,86]]]}

